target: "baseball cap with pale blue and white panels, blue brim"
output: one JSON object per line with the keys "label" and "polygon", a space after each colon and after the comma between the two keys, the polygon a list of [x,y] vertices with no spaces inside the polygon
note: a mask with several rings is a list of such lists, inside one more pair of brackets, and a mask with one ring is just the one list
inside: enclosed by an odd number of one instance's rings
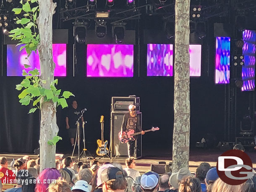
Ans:
{"label": "baseball cap with pale blue and white panels, blue brim", "polygon": [[154,171],[146,172],[141,176],[141,187],[143,189],[153,189],[157,186],[159,180],[159,174]]}

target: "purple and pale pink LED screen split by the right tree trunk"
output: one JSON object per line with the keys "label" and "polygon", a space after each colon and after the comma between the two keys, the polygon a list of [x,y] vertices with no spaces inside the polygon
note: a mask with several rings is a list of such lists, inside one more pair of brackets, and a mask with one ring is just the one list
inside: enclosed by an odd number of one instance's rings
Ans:
{"label": "purple and pale pink LED screen split by the right tree trunk", "polygon": [[[190,76],[201,76],[201,45],[189,45]],[[173,45],[148,44],[148,76],[173,76]]]}

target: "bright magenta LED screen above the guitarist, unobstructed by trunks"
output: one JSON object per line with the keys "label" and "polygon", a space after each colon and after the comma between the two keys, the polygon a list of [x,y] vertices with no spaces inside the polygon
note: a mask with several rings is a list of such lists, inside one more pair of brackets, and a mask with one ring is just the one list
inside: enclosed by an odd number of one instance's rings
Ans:
{"label": "bright magenta LED screen above the guitarist, unobstructed by trunks", "polygon": [[133,77],[133,45],[88,44],[87,77]]}

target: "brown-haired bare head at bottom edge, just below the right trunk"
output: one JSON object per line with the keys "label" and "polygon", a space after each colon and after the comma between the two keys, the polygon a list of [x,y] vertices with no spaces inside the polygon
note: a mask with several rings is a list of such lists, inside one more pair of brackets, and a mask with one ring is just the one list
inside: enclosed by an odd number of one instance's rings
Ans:
{"label": "brown-haired bare head at bottom edge, just below the right trunk", "polygon": [[185,176],[179,183],[179,192],[201,192],[201,184],[195,176]]}

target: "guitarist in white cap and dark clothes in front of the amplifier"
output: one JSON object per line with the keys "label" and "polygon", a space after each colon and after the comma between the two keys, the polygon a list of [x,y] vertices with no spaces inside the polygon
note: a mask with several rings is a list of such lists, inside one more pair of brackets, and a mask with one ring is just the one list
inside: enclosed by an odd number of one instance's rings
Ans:
{"label": "guitarist in white cap and dark clothes in front of the amplifier", "polygon": [[[123,117],[121,131],[124,135],[125,132],[128,132],[131,129],[134,130],[134,132],[141,132],[142,135],[145,134],[145,132],[141,129],[141,119],[139,116],[137,116],[136,106],[133,104],[129,105],[129,113],[125,114]],[[136,140],[127,142],[129,158],[134,156],[135,142]]]}

